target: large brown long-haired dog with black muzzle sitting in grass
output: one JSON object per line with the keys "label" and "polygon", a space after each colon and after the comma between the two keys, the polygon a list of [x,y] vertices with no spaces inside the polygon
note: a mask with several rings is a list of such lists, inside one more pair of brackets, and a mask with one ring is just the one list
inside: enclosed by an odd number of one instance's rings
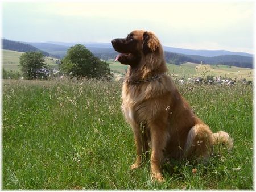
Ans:
{"label": "large brown long-haired dog with black muzzle sitting in grass", "polygon": [[135,30],[124,39],[113,39],[121,53],[116,60],[130,65],[122,87],[122,111],[133,128],[137,159],[151,152],[151,175],[164,181],[160,169],[164,158],[208,158],[212,145],[233,141],[224,131],[212,133],[180,95],[167,72],[162,45],[153,32]]}

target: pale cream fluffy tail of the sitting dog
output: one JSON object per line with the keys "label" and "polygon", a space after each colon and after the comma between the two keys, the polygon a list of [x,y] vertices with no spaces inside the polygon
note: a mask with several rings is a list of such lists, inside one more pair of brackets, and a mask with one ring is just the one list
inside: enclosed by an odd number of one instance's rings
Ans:
{"label": "pale cream fluffy tail of the sitting dog", "polygon": [[217,133],[213,133],[212,141],[213,145],[225,144],[228,149],[232,149],[234,145],[232,138],[225,131],[218,131]]}

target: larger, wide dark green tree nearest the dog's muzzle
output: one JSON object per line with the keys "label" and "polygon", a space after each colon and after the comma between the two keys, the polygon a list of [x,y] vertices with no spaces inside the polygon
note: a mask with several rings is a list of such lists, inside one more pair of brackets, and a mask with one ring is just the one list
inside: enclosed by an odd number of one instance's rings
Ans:
{"label": "larger, wide dark green tree nearest the dog's muzzle", "polygon": [[68,49],[61,60],[60,69],[72,77],[109,78],[109,64],[93,55],[84,45],[76,44]]}

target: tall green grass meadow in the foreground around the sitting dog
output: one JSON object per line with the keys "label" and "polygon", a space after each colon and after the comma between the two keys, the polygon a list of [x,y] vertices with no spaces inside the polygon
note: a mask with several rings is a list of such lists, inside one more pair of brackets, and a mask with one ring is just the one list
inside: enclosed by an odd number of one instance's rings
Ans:
{"label": "tall green grass meadow in the foreground around the sitting dog", "polygon": [[205,163],[171,160],[160,184],[149,161],[130,170],[135,145],[121,82],[3,80],[2,188],[253,190],[253,87],[178,89],[213,132],[230,133],[234,148],[215,147]]}

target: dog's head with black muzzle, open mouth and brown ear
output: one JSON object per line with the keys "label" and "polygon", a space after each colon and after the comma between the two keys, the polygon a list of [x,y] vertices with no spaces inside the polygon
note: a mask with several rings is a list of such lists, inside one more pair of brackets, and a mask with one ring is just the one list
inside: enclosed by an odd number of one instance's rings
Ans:
{"label": "dog's head with black muzzle, open mouth and brown ear", "polygon": [[132,31],[126,38],[113,39],[111,43],[121,53],[115,61],[130,66],[137,66],[143,56],[157,52],[161,46],[153,32],[144,30]]}

